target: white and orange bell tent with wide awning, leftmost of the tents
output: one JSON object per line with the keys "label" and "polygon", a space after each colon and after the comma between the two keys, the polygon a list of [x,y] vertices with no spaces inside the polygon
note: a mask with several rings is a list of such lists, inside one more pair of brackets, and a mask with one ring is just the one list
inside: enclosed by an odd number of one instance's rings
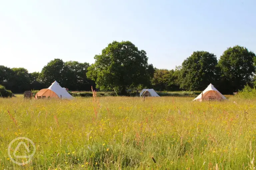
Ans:
{"label": "white and orange bell tent with wide awning, leftmost of the tents", "polygon": [[61,98],[72,99],[73,97],[67,92],[65,88],[62,88],[57,81],[54,81],[48,89],[42,89],[37,92],[36,98]]}

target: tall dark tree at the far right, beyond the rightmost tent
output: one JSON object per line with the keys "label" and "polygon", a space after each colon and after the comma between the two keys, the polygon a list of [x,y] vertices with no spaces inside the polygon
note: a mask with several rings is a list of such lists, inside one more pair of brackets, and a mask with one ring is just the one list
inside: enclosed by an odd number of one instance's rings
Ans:
{"label": "tall dark tree at the far right, beyond the rightmost tent", "polygon": [[221,88],[226,93],[237,92],[250,83],[255,73],[255,54],[243,46],[229,47],[220,56]]}

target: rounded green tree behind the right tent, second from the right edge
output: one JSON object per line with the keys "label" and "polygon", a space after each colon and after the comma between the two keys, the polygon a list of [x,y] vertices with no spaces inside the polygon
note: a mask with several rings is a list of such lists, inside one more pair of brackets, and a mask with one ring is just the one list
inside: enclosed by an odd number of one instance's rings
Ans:
{"label": "rounded green tree behind the right tent, second from the right edge", "polygon": [[185,59],[178,71],[180,88],[185,90],[203,90],[210,83],[215,84],[219,71],[217,58],[207,51],[195,51]]}

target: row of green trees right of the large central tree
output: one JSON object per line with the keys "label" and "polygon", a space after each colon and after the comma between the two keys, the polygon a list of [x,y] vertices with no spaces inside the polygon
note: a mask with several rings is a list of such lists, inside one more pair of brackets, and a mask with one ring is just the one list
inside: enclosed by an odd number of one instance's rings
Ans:
{"label": "row of green trees right of the large central tree", "polygon": [[212,83],[222,93],[232,94],[246,84],[254,85],[255,63],[255,54],[238,45],[229,47],[219,60],[213,53],[195,51],[175,70],[157,70],[153,86],[162,84],[161,90],[202,91]]}

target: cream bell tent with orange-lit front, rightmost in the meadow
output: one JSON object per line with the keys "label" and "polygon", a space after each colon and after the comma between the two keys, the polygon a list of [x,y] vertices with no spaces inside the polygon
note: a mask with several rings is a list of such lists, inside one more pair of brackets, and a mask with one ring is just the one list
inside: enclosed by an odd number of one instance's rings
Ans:
{"label": "cream bell tent with orange-lit front, rightmost in the meadow", "polygon": [[224,100],[226,99],[212,84],[210,84],[200,95],[193,101],[203,100]]}

